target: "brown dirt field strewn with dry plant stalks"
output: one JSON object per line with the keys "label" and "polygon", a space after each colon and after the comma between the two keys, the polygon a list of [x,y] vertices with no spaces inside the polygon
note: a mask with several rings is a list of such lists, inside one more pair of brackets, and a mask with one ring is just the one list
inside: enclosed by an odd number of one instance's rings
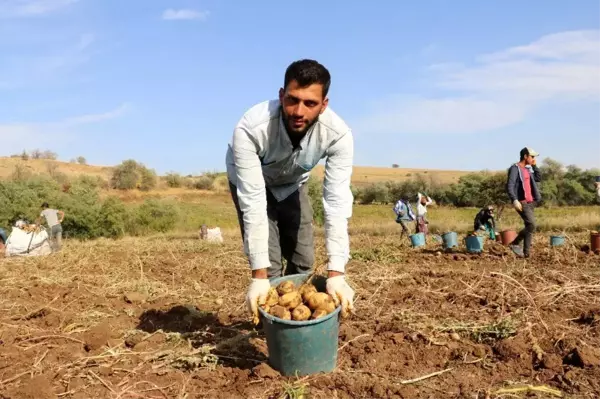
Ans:
{"label": "brown dirt field strewn with dry plant stalks", "polygon": [[[357,315],[341,321],[337,369],[296,379],[266,364],[227,233],[223,245],[126,238],[0,259],[0,397],[600,396],[598,255],[544,237],[524,261],[354,235]],[[319,237],[319,264],[324,252]]]}

